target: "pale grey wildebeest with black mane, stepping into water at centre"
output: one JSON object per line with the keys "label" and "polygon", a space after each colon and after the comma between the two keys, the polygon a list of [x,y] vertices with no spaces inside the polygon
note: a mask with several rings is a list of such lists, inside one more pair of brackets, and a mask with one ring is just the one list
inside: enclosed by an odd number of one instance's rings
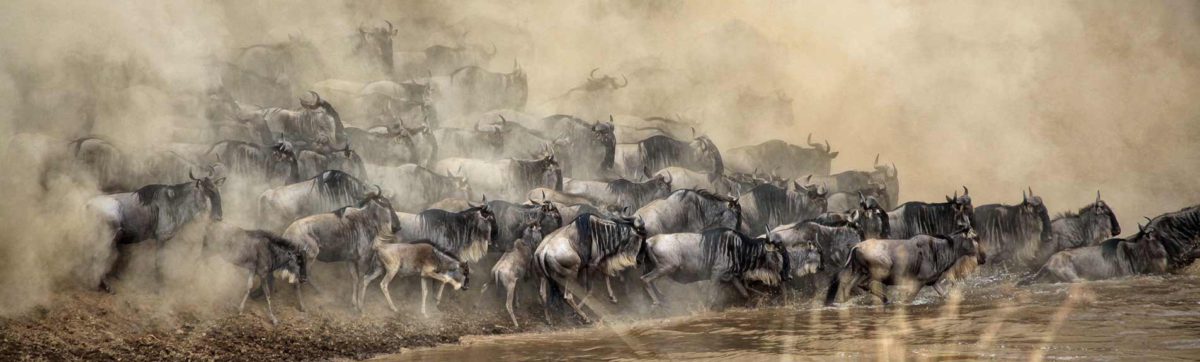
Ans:
{"label": "pale grey wildebeest with black mane, stepping into water at centre", "polygon": [[776,285],[791,278],[790,255],[780,243],[767,237],[748,237],[733,229],[655,235],[643,248],[649,272],[641,279],[655,306],[661,303],[662,292],[654,280],[661,277],[684,284],[730,283],[742,297],[750,297],[744,285],[746,280]]}

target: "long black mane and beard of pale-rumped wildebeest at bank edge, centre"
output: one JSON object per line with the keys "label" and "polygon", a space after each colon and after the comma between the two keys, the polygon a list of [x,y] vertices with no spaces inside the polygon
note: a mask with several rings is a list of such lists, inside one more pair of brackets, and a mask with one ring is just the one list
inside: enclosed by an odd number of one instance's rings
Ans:
{"label": "long black mane and beard of pale-rumped wildebeest at bank edge, centre", "polygon": [[594,271],[601,265],[606,265],[608,271],[614,271],[637,263],[642,246],[640,241],[634,240],[636,231],[632,224],[584,213],[575,218],[575,228],[578,233],[578,239],[574,240],[575,249],[580,253],[580,260],[587,266],[580,269],[581,279],[587,280],[588,271]]}

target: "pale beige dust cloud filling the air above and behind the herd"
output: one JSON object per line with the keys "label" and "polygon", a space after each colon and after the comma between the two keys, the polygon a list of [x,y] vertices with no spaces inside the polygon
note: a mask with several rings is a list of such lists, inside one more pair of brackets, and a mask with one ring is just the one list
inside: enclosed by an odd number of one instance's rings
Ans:
{"label": "pale beige dust cloud filling the air above and behind the herd", "polygon": [[[244,2],[5,1],[0,139],[65,141],[90,122],[126,144],[186,140],[204,122],[200,95],[218,82],[214,61],[234,49],[300,35],[337,68],[358,24],[425,19],[496,43],[490,70],[520,60],[534,115],[563,110],[554,98],[600,67],[630,74],[630,86],[612,95],[613,110],[580,111],[589,119],[680,114],[725,149],[803,144],[811,132],[841,152],[835,171],[868,169],[876,153],[895,162],[902,200],[966,185],[977,206],[1013,204],[1032,186],[1057,212],[1100,189],[1127,233],[1200,200],[1193,1]],[[397,50],[452,41],[400,29]],[[790,122],[734,102],[776,92],[793,99]],[[4,152],[0,285],[32,296],[6,292],[0,314],[10,314],[67,278],[78,259],[61,254],[86,242],[59,230],[72,224],[60,218],[97,192],[31,194],[37,159]]]}

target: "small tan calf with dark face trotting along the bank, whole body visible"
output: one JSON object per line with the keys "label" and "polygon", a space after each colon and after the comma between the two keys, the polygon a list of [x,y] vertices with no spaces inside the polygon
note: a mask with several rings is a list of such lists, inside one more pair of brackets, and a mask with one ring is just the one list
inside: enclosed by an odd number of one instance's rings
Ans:
{"label": "small tan calf with dark face trotting along the bank, whole body visible", "polygon": [[[366,296],[367,285],[379,276],[379,290],[388,300],[391,312],[398,312],[396,303],[391,301],[391,292],[388,284],[396,276],[419,276],[421,279],[421,315],[425,313],[425,301],[428,298],[428,279],[442,282],[442,285],[450,284],[455,290],[467,290],[470,282],[470,266],[462,261],[454,253],[424,240],[398,243],[377,242],[373,246],[377,263],[371,265],[371,272],[362,278],[359,288],[359,302]],[[440,292],[438,294],[440,296]],[[361,306],[359,307],[361,310]]]}

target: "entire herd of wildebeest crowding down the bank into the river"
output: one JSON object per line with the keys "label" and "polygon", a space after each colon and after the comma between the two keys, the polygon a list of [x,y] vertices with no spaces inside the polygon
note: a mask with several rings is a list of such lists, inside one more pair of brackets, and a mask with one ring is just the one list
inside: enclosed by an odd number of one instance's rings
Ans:
{"label": "entire herd of wildebeest crowding down the bank into the river", "polygon": [[[40,181],[73,173],[109,192],[86,207],[114,251],[148,240],[161,247],[203,224],[205,253],[248,271],[241,306],[260,285],[272,321],[276,279],[292,284],[304,309],[301,286],[313,284],[317,263],[348,266],[348,277],[318,290],[350,290],[359,310],[373,280],[396,310],[391,280],[419,277],[422,314],[427,279],[440,300],[446,285],[466,290],[472,269],[490,267],[488,284],[506,294],[517,324],[518,290],[539,291],[547,320],[565,310],[550,308],[559,301],[590,320],[584,309],[600,279],[618,306],[629,301],[613,284],[667,302],[664,278],[709,280],[740,297],[821,285],[833,303],[860,290],[887,301],[886,285],[906,298],[926,285],[942,292],[972,271],[1076,282],[1171,272],[1200,255],[1195,206],[1122,239],[1098,192],[1055,217],[1032,188],[1013,205],[974,206],[967,187],[944,201],[901,204],[894,164],[876,157],[871,169],[830,174],[839,152],[811,134],[806,145],[769,140],[722,152],[678,116],[629,125],[523,113],[520,64],[509,73],[480,65],[494,46],[431,48],[416,72],[424,78],[396,77],[395,35],[390,23],[359,30],[356,55],[379,77],[370,83],[251,66],[305,59],[316,50],[302,41],[246,48],[208,97],[211,143],[143,156],[80,138],[64,143],[67,157]],[[636,82],[622,80],[590,76],[572,91]],[[299,108],[283,108],[290,95],[300,95]],[[239,187],[223,199],[229,183]],[[223,200],[252,211],[230,221]],[[106,270],[100,288],[110,291],[116,269]]]}

